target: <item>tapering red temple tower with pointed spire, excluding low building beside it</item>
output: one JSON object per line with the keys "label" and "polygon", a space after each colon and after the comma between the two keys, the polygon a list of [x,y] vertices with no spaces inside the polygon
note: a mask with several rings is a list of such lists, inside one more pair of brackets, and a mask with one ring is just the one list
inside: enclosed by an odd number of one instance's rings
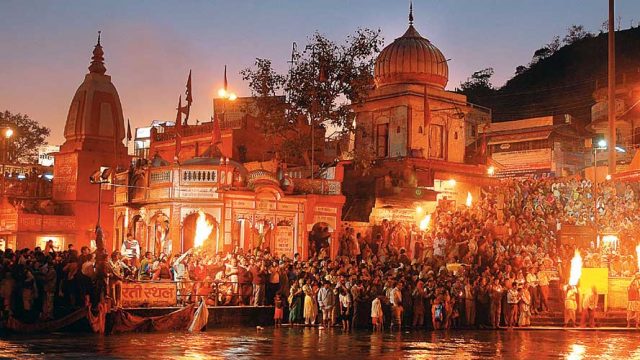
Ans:
{"label": "tapering red temple tower with pointed spire, excluding low building beside it", "polygon": [[[75,217],[75,246],[89,245],[95,239],[98,213],[98,186],[89,177],[100,167],[126,168],[130,159],[122,140],[124,118],[118,91],[105,75],[104,51],[98,43],[93,49],[89,73],[76,90],[64,127],[65,142],[55,155],[53,200],[65,213]],[[101,190],[101,218],[106,248],[114,239],[113,191]]]}

